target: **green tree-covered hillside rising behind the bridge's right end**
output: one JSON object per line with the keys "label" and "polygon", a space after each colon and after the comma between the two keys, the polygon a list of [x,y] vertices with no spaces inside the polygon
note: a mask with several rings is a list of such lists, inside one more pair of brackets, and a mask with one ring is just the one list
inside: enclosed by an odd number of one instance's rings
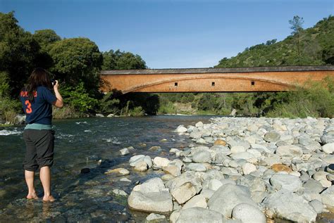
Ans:
{"label": "green tree-covered hillside rising behind the bridge's right end", "polygon": [[[299,53],[298,53],[299,42]],[[323,18],[306,30],[280,42],[268,40],[251,46],[237,56],[223,58],[216,68],[258,67],[275,65],[334,64],[334,16]]]}

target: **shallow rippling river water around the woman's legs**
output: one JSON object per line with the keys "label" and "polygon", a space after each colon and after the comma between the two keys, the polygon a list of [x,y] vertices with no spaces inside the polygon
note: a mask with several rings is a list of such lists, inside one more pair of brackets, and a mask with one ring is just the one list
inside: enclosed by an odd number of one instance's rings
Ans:
{"label": "shallow rippling river water around the woman's legs", "polygon": [[[170,148],[187,146],[190,140],[173,132],[178,125],[194,125],[199,120],[209,122],[209,116],[154,116],[127,118],[89,118],[56,120],[55,158],[52,167],[52,191],[57,199],[45,204],[40,200],[26,200],[22,162],[25,144],[23,127],[0,129],[0,219],[1,222],[141,222],[147,214],[128,210],[126,198],[113,195],[113,189],[130,193],[136,181],[161,176],[161,171],[134,172],[128,165],[131,155],[147,154],[169,157]],[[161,139],[167,139],[166,142]],[[143,144],[146,144],[143,145]],[[130,155],[121,156],[119,150],[135,147]],[[151,146],[161,146],[151,151]],[[173,158],[173,157],[171,157]],[[98,160],[102,160],[98,165]],[[89,167],[88,174],[80,174]],[[130,170],[121,177],[104,172],[116,167]],[[36,178],[38,178],[38,174]],[[36,181],[39,197],[42,185]]]}

